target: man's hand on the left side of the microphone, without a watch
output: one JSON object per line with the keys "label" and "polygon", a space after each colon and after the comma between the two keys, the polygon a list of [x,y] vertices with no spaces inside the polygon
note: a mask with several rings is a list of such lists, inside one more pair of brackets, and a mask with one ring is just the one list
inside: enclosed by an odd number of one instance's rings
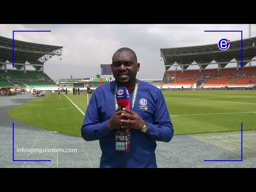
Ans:
{"label": "man's hand on the left side of the microphone, without a watch", "polygon": [[[124,126],[126,124],[121,123],[122,114],[126,114],[127,112],[118,108],[116,112],[112,115],[112,117],[108,120],[107,126],[110,130],[120,128],[121,126]],[[127,120],[127,119],[125,119]]]}

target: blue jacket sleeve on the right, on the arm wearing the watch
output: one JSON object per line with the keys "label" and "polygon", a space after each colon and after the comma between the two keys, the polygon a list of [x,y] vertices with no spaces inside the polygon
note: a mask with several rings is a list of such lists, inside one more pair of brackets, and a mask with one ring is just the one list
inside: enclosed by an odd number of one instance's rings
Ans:
{"label": "blue jacket sleeve on the right, on the arm wearing the watch", "polygon": [[174,129],[168,112],[162,91],[158,91],[156,97],[156,109],[154,111],[154,122],[148,124],[148,136],[156,141],[170,142]]}

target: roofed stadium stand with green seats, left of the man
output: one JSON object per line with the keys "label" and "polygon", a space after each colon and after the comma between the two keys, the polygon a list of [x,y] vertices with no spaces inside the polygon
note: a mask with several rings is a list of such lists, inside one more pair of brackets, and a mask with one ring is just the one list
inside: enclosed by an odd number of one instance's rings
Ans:
{"label": "roofed stadium stand with green seats, left of the man", "polygon": [[[22,88],[26,92],[31,89],[57,91],[60,86],[44,73],[44,64],[52,56],[61,56],[62,48],[14,40],[13,63],[13,40],[0,36],[0,87]],[[13,69],[8,69],[7,65],[13,65]],[[35,70],[26,70],[26,66],[33,66]]]}

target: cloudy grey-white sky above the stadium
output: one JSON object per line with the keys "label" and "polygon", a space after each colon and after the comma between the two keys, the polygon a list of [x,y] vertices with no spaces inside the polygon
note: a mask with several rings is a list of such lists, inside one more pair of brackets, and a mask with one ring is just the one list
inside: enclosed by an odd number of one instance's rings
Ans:
{"label": "cloudy grey-white sky above the stadium", "polygon": [[[122,47],[137,54],[140,62],[137,78],[163,78],[165,67],[160,48],[217,44],[221,38],[231,42],[241,39],[240,32],[204,30],[242,30],[243,38],[249,38],[249,24],[0,24],[0,28],[0,36],[7,38],[12,38],[13,30],[50,30],[15,32],[14,39],[63,46],[62,60],[54,56],[44,63],[45,73],[53,80],[70,75],[96,77],[100,74],[100,64],[111,64],[114,52]],[[256,24],[251,24],[251,28],[251,37],[255,37]],[[252,65],[256,66],[254,62]]]}

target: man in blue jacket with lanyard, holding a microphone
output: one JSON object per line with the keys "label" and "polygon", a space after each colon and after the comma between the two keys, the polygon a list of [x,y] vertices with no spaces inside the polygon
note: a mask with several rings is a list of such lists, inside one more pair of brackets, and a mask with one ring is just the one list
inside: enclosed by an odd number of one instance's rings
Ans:
{"label": "man in blue jacket with lanyard, holding a microphone", "polygon": [[[156,141],[170,142],[174,134],[164,96],[156,86],[136,79],[140,63],[130,48],[114,53],[111,68],[115,81],[94,90],[82,138],[99,140],[100,168],[157,168]],[[130,95],[126,108],[118,107],[115,100],[120,86]]]}

